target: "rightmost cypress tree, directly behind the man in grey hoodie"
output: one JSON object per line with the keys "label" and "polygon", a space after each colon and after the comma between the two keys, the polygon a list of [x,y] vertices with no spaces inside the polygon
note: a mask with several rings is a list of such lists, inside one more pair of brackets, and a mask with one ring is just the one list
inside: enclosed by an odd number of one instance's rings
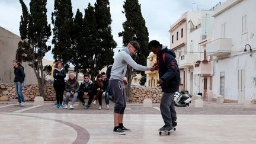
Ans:
{"label": "rightmost cypress tree, directly behind the man in grey hoodie", "polygon": [[[119,33],[120,37],[123,37],[123,44],[127,46],[129,41],[135,40],[140,44],[140,50],[133,56],[133,59],[140,65],[146,66],[146,57],[149,55],[148,41],[149,34],[148,28],[144,18],[142,17],[142,12],[140,9],[140,4],[138,0],[126,0],[123,5],[126,21],[123,23],[124,30]],[[130,84],[132,82],[132,75],[135,73],[130,66],[127,69],[127,81],[129,82],[129,87],[127,89],[127,97],[130,95]],[[142,76],[145,72],[140,72]]]}

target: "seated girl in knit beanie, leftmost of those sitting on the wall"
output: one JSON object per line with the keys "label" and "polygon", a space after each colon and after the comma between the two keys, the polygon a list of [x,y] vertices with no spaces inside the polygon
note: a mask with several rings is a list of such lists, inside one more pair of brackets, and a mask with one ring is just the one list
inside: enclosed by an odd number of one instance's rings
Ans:
{"label": "seated girl in knit beanie, leftmost of those sitting on the wall", "polygon": [[66,90],[66,100],[65,100],[66,105],[64,108],[65,109],[68,108],[69,97],[73,95],[73,100],[71,102],[71,105],[69,105],[69,109],[73,109],[73,104],[75,103],[76,98],[78,97],[78,90],[79,90],[79,82],[76,81],[74,73],[69,74],[69,79],[68,81],[66,81],[65,90]]}

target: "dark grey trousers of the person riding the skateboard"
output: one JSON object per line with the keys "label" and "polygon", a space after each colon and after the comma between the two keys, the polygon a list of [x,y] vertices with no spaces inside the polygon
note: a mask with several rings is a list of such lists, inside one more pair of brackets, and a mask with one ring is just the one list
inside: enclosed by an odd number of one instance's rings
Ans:
{"label": "dark grey trousers of the person riding the skateboard", "polygon": [[164,92],[162,95],[160,110],[162,114],[162,119],[165,125],[171,126],[172,121],[177,119],[175,107],[174,107],[174,93]]}

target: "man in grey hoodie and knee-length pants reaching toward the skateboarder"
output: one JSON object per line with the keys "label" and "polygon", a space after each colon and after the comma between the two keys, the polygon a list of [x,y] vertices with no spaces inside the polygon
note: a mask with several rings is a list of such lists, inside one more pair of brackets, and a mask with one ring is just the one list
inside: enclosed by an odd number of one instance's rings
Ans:
{"label": "man in grey hoodie and knee-length pants reaching toward the skateboarder", "polygon": [[127,47],[124,47],[119,53],[117,53],[113,67],[111,70],[111,76],[109,81],[110,91],[115,101],[114,105],[114,130],[116,134],[126,134],[126,132],[132,132],[123,126],[123,114],[126,108],[126,95],[124,92],[124,86],[128,85],[124,76],[126,75],[127,65],[138,71],[154,71],[154,68],[148,68],[137,64],[132,55],[135,55],[136,50],[139,50],[139,43],[136,41],[130,41]]}

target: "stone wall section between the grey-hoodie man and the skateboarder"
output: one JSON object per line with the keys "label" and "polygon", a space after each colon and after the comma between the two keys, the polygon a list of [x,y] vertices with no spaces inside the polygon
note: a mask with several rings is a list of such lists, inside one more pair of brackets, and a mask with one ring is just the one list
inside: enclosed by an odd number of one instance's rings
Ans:
{"label": "stone wall section between the grey-hoodie man and the skateboarder", "polygon": [[130,93],[130,103],[143,103],[145,98],[152,100],[152,103],[160,103],[162,98],[161,88],[132,87]]}

